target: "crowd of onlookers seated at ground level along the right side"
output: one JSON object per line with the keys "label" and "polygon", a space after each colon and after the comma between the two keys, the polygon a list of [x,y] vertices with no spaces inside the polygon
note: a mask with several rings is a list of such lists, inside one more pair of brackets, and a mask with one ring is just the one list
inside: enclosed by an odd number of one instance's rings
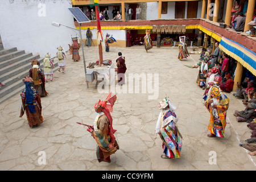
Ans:
{"label": "crowd of onlookers seated at ground level along the right side", "polygon": [[[233,115],[236,117],[237,122],[245,122],[247,127],[249,127],[249,129],[251,130],[250,138],[240,143],[240,146],[249,150],[249,155],[256,155],[255,76],[246,68],[244,68],[241,84],[238,84],[238,82],[234,83],[234,75],[236,73],[237,61],[234,60],[232,57],[226,55],[226,53],[220,52],[221,50],[218,49],[218,43],[216,43],[216,49],[212,53],[208,53],[207,49],[203,48],[200,60],[204,60],[205,55],[210,56],[210,68],[212,68],[212,66],[217,67],[219,75],[221,76],[221,82],[217,83],[217,85],[220,86],[222,92],[230,93],[233,91],[234,84],[237,85],[237,89],[236,92],[233,93],[233,97],[240,99],[242,104],[245,106],[245,109],[241,111],[235,110]],[[216,59],[214,60],[214,58]],[[226,69],[224,69],[224,65],[226,65]]]}

